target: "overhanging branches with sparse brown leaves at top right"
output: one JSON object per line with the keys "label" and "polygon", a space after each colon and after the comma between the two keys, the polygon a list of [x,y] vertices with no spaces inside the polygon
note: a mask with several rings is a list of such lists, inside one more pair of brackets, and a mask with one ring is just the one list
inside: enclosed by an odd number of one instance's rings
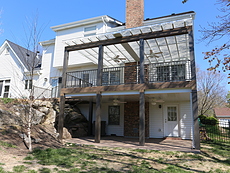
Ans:
{"label": "overhanging branches with sparse brown leaves at top right", "polygon": [[222,42],[221,45],[204,52],[204,59],[210,63],[209,71],[228,72],[230,70],[230,1],[218,0],[217,2],[221,6],[219,10],[222,15],[217,16],[218,22],[208,23],[207,28],[201,27],[200,32],[203,36],[200,41],[206,41],[207,45],[217,40]]}

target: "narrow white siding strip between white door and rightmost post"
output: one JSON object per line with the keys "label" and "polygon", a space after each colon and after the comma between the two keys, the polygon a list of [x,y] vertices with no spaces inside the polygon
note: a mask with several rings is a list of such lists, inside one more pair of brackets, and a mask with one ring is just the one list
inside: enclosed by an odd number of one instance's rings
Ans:
{"label": "narrow white siding strip between white door and rightmost post", "polygon": [[192,139],[192,116],[190,102],[180,103],[180,129],[182,139]]}

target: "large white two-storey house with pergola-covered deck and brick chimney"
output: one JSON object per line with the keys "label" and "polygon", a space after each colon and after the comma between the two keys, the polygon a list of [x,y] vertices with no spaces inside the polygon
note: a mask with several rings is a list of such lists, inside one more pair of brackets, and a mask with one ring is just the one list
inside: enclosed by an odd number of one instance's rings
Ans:
{"label": "large white two-storey house with pergola-covered deck and brick chimney", "polygon": [[125,24],[99,16],[51,27],[56,38],[41,42],[52,95],[60,88],[60,139],[65,102],[74,100],[90,131],[95,123],[95,142],[105,128],[140,145],[175,137],[199,149],[195,13],[144,20],[143,0],[126,5]]}

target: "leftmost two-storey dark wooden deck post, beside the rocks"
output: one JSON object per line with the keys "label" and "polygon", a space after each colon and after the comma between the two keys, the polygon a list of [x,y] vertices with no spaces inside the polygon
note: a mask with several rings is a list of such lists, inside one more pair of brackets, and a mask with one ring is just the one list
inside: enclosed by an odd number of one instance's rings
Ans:
{"label": "leftmost two-storey dark wooden deck post, beside the rocks", "polygon": [[[68,68],[68,60],[69,60],[69,51],[65,50],[61,89],[66,87],[66,72]],[[64,111],[65,109],[65,95],[64,94],[60,96],[59,108],[60,108],[60,111],[59,111],[59,118],[58,118],[58,133],[59,133],[59,140],[62,141],[63,126],[64,126],[64,112],[65,112]]]}

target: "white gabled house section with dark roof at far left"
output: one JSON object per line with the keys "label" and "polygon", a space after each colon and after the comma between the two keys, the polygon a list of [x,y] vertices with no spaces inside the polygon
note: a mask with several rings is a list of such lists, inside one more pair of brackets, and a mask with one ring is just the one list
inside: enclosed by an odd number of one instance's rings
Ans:
{"label": "white gabled house section with dark roof at far left", "polygon": [[[35,98],[50,97],[47,95],[48,89],[37,87],[40,82],[40,58],[33,52],[5,40],[0,47],[0,62],[0,98],[28,98],[32,87]],[[31,66],[33,63],[34,66]],[[31,68],[34,69],[33,77]]]}

